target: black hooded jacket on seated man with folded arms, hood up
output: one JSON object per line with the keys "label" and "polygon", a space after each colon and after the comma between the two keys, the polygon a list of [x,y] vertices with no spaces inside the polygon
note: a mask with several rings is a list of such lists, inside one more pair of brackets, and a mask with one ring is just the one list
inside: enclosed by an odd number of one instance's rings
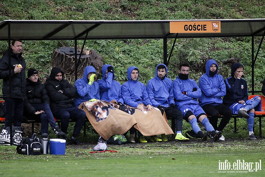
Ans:
{"label": "black hooded jacket on seated man with folded arms, hood up", "polygon": [[[47,93],[50,98],[51,110],[55,108],[70,108],[73,107],[74,96],[77,95],[77,90],[67,80],[62,79],[61,81],[55,79],[57,73],[61,72],[64,78],[64,73],[58,67],[52,68],[50,76],[44,83]],[[60,92],[59,90],[62,90]]]}

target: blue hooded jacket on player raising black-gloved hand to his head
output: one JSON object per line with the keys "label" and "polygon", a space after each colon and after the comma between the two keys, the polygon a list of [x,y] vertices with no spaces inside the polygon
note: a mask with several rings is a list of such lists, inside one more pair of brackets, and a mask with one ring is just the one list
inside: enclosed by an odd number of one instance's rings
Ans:
{"label": "blue hooded jacket on player raising black-gloved hand to his head", "polygon": [[[124,103],[121,96],[121,86],[118,81],[115,81],[114,69],[112,73],[107,73],[107,78],[105,77],[108,67],[112,65],[103,65],[102,66],[102,79],[98,80],[97,83],[100,87],[100,99],[105,101],[115,100],[117,102]],[[113,67],[112,67],[113,68]]]}

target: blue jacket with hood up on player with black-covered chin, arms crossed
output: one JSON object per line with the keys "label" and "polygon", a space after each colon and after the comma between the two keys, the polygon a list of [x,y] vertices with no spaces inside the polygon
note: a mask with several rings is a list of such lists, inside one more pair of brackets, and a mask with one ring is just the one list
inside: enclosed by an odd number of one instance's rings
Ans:
{"label": "blue jacket with hood up on player with black-covered chin, arms crossed", "polygon": [[[216,74],[213,77],[209,75],[212,64],[216,65]],[[223,81],[223,76],[217,74],[217,72],[218,65],[215,60],[208,60],[206,62],[206,73],[199,79],[199,87],[201,88],[201,98],[199,99],[200,106],[223,103],[221,97],[226,95],[226,85]]]}

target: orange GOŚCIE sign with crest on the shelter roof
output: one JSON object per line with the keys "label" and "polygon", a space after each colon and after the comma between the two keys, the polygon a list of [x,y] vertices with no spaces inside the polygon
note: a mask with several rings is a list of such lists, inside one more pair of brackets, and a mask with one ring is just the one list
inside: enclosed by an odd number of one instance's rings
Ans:
{"label": "orange GO\u015aCIE sign with crest on the shelter roof", "polygon": [[221,32],[220,21],[174,21],[169,26],[170,33]]}

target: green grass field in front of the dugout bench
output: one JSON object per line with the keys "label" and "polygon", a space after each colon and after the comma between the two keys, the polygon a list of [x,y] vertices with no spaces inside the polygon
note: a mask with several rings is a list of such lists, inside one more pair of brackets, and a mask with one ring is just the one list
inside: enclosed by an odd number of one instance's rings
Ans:
{"label": "green grass field in front of the dugout bench", "polygon": [[265,176],[262,138],[108,145],[117,153],[90,153],[94,146],[71,145],[66,155],[38,156],[0,146],[0,176]]}

